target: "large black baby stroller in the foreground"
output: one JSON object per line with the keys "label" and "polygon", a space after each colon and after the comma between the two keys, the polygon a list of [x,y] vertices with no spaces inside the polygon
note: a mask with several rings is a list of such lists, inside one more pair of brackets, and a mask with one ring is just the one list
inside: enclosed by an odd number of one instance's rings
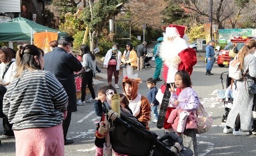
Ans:
{"label": "large black baby stroller in the foreground", "polygon": [[167,133],[158,138],[156,133],[146,130],[135,116],[121,109],[120,117],[117,117],[117,113],[107,103],[104,105],[114,125],[110,142],[115,152],[137,156],[193,155],[190,148],[179,146],[182,138],[175,133]]}

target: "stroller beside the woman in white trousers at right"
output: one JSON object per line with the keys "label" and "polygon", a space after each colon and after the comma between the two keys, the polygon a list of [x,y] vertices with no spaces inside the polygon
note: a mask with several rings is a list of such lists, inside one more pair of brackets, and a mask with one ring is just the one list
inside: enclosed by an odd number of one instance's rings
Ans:
{"label": "stroller beside the woman in white trousers at right", "polygon": [[[228,77],[228,72],[223,72],[221,73],[221,78],[219,78],[221,80],[221,83],[222,83],[222,90],[218,90],[218,96],[223,96],[222,98],[225,98],[225,90],[224,90],[224,84],[223,84],[223,76],[226,75],[226,89],[229,87],[229,85],[231,85],[231,78]],[[220,92],[222,92],[221,94],[222,95],[219,95]],[[228,101],[226,101],[224,99],[224,115],[222,116],[222,122],[226,122],[227,119],[228,119],[228,114],[229,114],[229,111],[231,111],[231,107],[232,107],[232,104],[233,104],[233,98],[228,98]]]}

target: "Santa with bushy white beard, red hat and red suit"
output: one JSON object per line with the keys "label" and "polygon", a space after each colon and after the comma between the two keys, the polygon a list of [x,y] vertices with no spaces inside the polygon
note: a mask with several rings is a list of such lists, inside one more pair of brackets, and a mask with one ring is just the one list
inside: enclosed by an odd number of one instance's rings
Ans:
{"label": "Santa with bushy white beard, red hat and red suit", "polygon": [[[166,28],[160,50],[160,57],[163,60],[163,79],[165,84],[174,83],[175,74],[179,70],[186,70],[191,75],[193,66],[197,63],[196,51],[188,47],[187,41],[183,37],[185,37],[185,26],[171,24]],[[166,90],[165,84],[162,85],[161,91],[159,90],[160,92],[156,95],[156,99],[160,104]],[[178,95],[180,92],[180,88],[177,88],[176,94]],[[163,126],[165,129],[171,128],[167,118],[172,110],[172,106],[169,105]]]}

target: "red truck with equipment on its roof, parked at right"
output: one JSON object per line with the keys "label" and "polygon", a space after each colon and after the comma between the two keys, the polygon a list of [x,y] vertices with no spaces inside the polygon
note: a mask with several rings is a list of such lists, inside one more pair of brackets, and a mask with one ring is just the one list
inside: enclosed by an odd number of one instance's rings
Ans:
{"label": "red truck with equipment on its roof, parked at right", "polygon": [[224,67],[225,65],[229,65],[229,62],[231,61],[231,57],[228,56],[229,50],[233,49],[233,43],[237,42],[237,49],[240,50],[244,46],[245,42],[252,39],[252,37],[235,37],[234,39],[231,39],[231,42],[227,44],[226,47],[224,47],[223,50],[219,52],[218,56],[218,66]]}

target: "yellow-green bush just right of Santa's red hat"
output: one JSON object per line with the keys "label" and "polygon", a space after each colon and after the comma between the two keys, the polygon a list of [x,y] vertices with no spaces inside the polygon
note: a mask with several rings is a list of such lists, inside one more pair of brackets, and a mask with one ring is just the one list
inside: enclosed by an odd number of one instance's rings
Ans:
{"label": "yellow-green bush just right of Santa's red hat", "polygon": [[190,38],[189,42],[196,41],[197,39],[204,39],[204,25],[200,24],[192,27],[187,35]]}

